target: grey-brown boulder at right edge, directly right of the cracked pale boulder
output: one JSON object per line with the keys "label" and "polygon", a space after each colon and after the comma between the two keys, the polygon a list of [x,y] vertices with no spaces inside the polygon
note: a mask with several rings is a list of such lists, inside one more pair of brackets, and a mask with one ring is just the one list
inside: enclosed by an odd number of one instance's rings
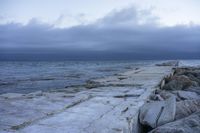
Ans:
{"label": "grey-brown boulder at right edge, directly right of the cracked pale boulder", "polygon": [[200,100],[184,100],[176,102],[175,119],[181,119],[200,111]]}

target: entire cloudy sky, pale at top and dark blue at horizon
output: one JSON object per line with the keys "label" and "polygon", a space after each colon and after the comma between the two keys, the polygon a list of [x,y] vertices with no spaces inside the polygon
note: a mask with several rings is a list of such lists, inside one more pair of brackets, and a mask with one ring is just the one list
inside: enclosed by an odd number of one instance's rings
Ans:
{"label": "entire cloudy sky, pale at top and dark blue at horizon", "polygon": [[200,58],[199,0],[0,0],[0,60]]}

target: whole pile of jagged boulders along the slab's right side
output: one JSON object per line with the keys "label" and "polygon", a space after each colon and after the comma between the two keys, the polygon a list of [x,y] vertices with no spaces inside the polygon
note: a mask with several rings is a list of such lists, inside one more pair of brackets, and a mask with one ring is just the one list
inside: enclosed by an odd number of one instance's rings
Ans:
{"label": "whole pile of jagged boulders along the slab's right side", "polygon": [[174,68],[140,108],[139,123],[141,133],[200,133],[200,68]]}

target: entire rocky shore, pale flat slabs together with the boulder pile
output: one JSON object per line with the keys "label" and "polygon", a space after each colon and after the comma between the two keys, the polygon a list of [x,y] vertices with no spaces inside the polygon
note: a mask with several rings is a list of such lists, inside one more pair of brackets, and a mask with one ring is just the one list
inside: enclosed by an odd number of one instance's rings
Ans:
{"label": "entire rocky shore, pale flat slabs together with the boulder pile", "polygon": [[79,86],[0,95],[1,133],[197,133],[200,69],[143,66]]}

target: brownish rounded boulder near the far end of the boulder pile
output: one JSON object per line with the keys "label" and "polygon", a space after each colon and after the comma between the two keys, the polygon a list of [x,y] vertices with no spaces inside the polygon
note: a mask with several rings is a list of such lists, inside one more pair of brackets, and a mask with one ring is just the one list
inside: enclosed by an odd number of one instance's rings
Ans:
{"label": "brownish rounded boulder near the far end of the boulder pile", "polygon": [[187,76],[173,76],[169,79],[169,82],[163,86],[164,90],[182,90],[191,86],[198,86],[198,83],[191,81]]}

